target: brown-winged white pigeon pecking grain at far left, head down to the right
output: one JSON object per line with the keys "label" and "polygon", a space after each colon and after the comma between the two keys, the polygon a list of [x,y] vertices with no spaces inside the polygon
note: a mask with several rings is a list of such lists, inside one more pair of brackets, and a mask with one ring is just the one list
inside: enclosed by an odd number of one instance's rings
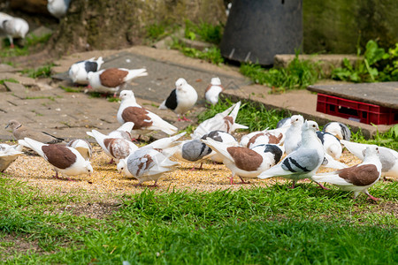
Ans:
{"label": "brown-winged white pigeon pecking grain at far left, head down to the right", "polygon": [[58,144],[44,144],[30,138],[25,138],[18,142],[26,148],[31,148],[48,163],[52,164],[56,170],[55,178],[59,178],[58,172],[67,176],[90,175],[93,172],[91,163],[84,159],[74,148]]}

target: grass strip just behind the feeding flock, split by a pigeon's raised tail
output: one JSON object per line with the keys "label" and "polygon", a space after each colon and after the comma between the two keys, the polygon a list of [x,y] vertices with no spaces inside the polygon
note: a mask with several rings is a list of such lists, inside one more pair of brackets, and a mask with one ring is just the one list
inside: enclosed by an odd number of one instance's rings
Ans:
{"label": "grass strip just behind the feeding flock, split by a pigeon's raised tail", "polygon": [[[216,105],[211,105],[210,108],[198,116],[198,123],[214,117],[217,113],[231,107],[232,104],[233,102],[228,98],[219,100]],[[249,126],[249,131],[253,132],[264,130],[267,127],[270,129],[275,128],[279,120],[287,116],[291,115],[284,110],[267,110],[263,104],[256,105],[253,102],[242,102],[235,122]]]}

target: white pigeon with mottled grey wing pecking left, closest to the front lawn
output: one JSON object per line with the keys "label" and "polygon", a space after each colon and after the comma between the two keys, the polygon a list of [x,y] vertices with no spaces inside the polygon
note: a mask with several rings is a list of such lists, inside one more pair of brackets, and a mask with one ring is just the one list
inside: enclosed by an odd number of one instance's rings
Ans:
{"label": "white pigeon with mottled grey wing pecking left, closest to the front lawn", "polygon": [[126,159],[121,159],[118,163],[119,173],[126,177],[138,179],[138,185],[142,182],[155,180],[153,186],[157,186],[157,180],[165,172],[170,172],[178,165],[169,158],[178,147],[168,148],[162,151],[151,147],[143,147],[128,155]]}

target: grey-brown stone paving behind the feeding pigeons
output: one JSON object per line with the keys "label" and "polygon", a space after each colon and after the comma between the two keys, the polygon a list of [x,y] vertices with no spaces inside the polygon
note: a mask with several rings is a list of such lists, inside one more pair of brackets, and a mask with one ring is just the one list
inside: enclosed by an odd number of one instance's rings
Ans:
{"label": "grey-brown stone paving behind the feeding pigeons", "polygon": [[[188,122],[177,122],[177,117],[170,110],[157,110],[174,88],[175,80],[184,77],[196,88],[199,102],[188,115],[195,122],[195,117],[205,108],[203,101],[204,89],[212,77],[220,77],[226,87],[225,95],[237,99],[247,99],[263,103],[268,108],[287,109],[292,113],[302,113],[306,118],[313,118],[320,125],[329,120],[337,120],[350,125],[354,130],[358,127],[365,134],[375,133],[375,127],[348,121],[317,112],[317,96],[309,91],[293,91],[283,95],[269,95],[269,87],[250,85],[233,66],[222,67],[208,64],[202,60],[185,57],[176,50],[153,49],[134,46],[123,50],[101,50],[76,53],[58,60],[53,68],[54,79],[30,79],[23,77],[8,65],[0,67],[0,80],[15,79],[19,83],[4,82],[8,91],[0,88],[0,139],[11,140],[12,135],[4,129],[10,119],[17,119],[22,124],[36,130],[52,133],[65,139],[85,138],[90,140],[87,131],[97,129],[108,133],[119,127],[116,113],[119,102],[108,102],[105,98],[91,97],[84,93],[65,92],[63,87],[73,87],[67,78],[66,71],[74,62],[90,57],[103,56],[103,68],[146,67],[148,77],[134,79],[129,88],[134,90],[137,102],[160,117],[183,129]],[[21,67],[23,68],[23,67]],[[5,91],[4,91],[5,90]],[[387,125],[379,125],[379,131],[386,131]],[[153,137],[165,134],[154,133]],[[92,139],[91,139],[92,140]]]}

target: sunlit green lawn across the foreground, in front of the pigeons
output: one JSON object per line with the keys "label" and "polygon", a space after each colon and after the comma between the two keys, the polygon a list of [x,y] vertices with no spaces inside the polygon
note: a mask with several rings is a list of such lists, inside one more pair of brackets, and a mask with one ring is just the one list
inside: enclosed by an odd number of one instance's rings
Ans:
{"label": "sunlit green lawn across the foreground, in front of the pigeons", "polygon": [[[398,185],[379,183],[371,193],[396,204]],[[12,233],[47,252],[19,253],[9,264],[396,263],[394,212],[351,196],[309,183],[294,190],[144,190],[95,219],[59,210],[83,201],[78,195],[0,178],[0,235]]]}

